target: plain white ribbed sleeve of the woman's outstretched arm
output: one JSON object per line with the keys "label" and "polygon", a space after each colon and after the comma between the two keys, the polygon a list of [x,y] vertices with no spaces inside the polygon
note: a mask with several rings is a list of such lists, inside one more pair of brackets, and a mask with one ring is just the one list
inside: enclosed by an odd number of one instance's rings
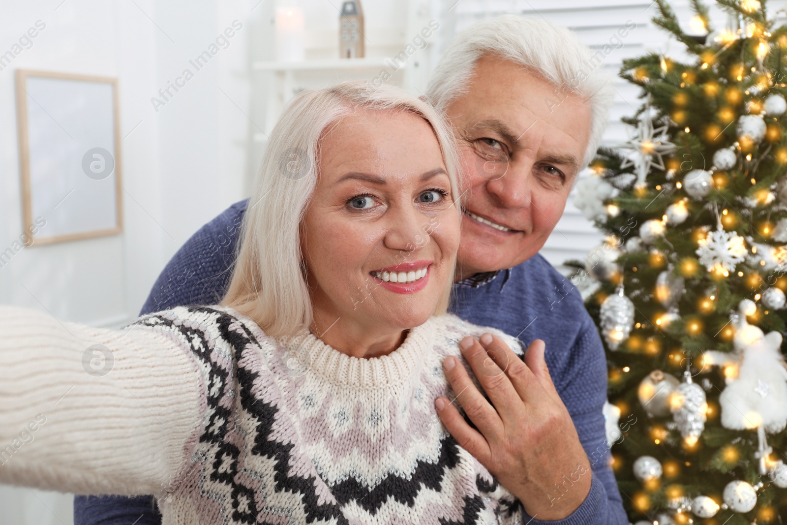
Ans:
{"label": "plain white ribbed sleeve of the woman's outstretched arm", "polygon": [[0,306],[0,482],[76,494],[162,494],[201,428],[188,349],[133,325]]}

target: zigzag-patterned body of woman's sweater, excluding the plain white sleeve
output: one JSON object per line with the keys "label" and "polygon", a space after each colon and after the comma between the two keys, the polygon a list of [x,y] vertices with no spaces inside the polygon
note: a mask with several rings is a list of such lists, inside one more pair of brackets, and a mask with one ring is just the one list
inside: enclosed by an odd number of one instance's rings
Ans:
{"label": "zigzag-patterned body of woman's sweater, excluding the plain white sleeve", "polygon": [[357,359],[313,335],[270,338],[220,306],[135,324],[189,349],[204,382],[193,453],[159,502],[164,523],[523,523],[519,500],[434,410],[455,397],[442,360],[469,372],[460,339],[500,332],[433,317],[393,353]]}

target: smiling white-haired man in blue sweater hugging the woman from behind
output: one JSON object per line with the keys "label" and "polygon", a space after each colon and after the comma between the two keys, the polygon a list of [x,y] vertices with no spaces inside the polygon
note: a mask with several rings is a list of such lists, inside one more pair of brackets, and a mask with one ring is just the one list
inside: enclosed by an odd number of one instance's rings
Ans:
{"label": "smiling white-haired man in blue sweater hugging the woman from behind", "polygon": [[[482,434],[458,412],[440,417],[501,484],[517,487],[531,525],[628,523],[605,444],[604,349],[577,290],[538,255],[606,123],[611,87],[588,57],[571,31],[545,20],[482,20],[457,35],[427,89],[453,123],[467,172],[453,312],[530,346],[524,359],[538,379],[506,406],[457,397],[471,420],[500,412],[519,422],[502,436]],[[143,313],[220,300],[246,203],[188,240]],[[536,338],[545,347],[531,345]],[[496,384],[510,388],[511,379]],[[160,522],[150,497],[77,497],[75,516],[78,525]]]}

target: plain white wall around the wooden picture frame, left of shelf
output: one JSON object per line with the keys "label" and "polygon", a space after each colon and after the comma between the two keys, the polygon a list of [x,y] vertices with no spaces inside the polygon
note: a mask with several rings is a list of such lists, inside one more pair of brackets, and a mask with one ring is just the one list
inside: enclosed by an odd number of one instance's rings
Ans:
{"label": "plain white wall around the wooden picture frame, left of shelf", "polygon": [[[0,268],[0,303],[96,326],[124,324],[135,318],[172,253],[244,197],[254,3],[2,3],[0,53],[36,20],[46,28],[0,71],[0,251],[22,231],[16,68],[119,79],[125,228],[122,235],[24,248]],[[231,45],[156,112],[150,98],[235,19],[244,28]],[[2,525],[71,521],[69,495],[0,487]]]}

